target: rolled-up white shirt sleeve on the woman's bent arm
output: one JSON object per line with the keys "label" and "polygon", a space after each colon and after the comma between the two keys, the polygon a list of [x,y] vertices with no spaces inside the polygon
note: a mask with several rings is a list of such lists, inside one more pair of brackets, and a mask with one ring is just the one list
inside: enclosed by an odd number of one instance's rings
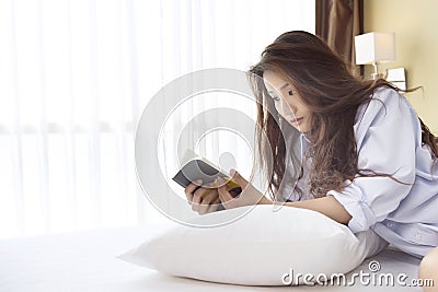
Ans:
{"label": "rolled-up white shirt sleeve on the woman's bent arm", "polygon": [[330,190],[351,215],[353,232],[368,230],[383,221],[410,194],[415,180],[416,133],[411,107],[397,92],[383,89],[374,92],[361,117],[354,126],[358,151],[358,168],[392,175],[356,176],[345,180],[342,191]]}

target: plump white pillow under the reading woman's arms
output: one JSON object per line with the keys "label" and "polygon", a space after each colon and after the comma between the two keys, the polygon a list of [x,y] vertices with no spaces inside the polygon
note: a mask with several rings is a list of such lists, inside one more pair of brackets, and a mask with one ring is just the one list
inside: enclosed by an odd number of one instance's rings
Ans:
{"label": "plump white pillow under the reading woman's arms", "polygon": [[[192,223],[223,222],[223,217],[241,214],[242,208],[205,214]],[[315,211],[291,207],[274,211],[267,205],[247,211],[219,227],[176,225],[119,258],[168,275],[212,282],[309,284],[323,281],[323,275],[330,279],[332,273],[346,273],[385,246],[372,231],[355,235]],[[310,273],[313,279],[299,273]]]}

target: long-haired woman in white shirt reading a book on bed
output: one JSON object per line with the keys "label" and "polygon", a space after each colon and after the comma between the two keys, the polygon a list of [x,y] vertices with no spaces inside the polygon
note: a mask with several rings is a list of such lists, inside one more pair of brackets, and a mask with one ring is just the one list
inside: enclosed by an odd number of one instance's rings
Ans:
{"label": "long-haired woman in white shirt reading a book on bed", "polygon": [[[399,90],[383,79],[355,78],[322,39],[306,32],[285,33],[267,46],[250,81],[272,199],[284,197],[286,206],[319,211],[353,232],[372,229],[401,250],[424,257],[419,277],[438,285],[437,138]],[[304,145],[298,173],[286,172],[297,160],[289,157],[284,137],[290,126]],[[298,183],[285,194],[281,182],[290,176]],[[223,186],[205,198],[208,188],[187,186],[193,209],[273,203],[239,173],[233,177],[244,189],[238,198]]]}

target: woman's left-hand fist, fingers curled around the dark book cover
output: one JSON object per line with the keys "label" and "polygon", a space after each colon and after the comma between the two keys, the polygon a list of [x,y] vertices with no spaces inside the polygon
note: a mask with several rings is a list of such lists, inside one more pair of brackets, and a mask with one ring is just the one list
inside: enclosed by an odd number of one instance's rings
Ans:
{"label": "woman's left-hand fist, fingers curled around the dark book cover", "polygon": [[[188,203],[192,205],[192,210],[199,214],[217,211],[220,206],[218,189],[212,188],[212,184],[199,187],[201,184],[201,180],[196,180],[195,184],[189,184],[184,190]],[[206,191],[209,192],[205,195]]]}

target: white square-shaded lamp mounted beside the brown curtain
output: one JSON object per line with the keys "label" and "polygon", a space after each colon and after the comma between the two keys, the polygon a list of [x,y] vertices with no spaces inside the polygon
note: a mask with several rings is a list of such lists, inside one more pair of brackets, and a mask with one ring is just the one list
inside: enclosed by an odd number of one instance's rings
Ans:
{"label": "white square-shaded lamp mounted beside the brown curtain", "polygon": [[378,65],[395,60],[395,39],[393,33],[368,33],[355,36],[356,63],[372,65],[372,79],[381,77]]}

